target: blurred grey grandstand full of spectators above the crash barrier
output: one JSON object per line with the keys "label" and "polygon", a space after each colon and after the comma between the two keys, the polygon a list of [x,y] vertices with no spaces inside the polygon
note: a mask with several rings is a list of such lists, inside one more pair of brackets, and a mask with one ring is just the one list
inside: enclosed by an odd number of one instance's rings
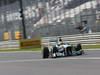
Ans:
{"label": "blurred grey grandstand full of spectators above the crash barrier", "polygon": [[[100,32],[100,0],[0,0],[0,40]],[[21,38],[20,38],[21,37]]]}

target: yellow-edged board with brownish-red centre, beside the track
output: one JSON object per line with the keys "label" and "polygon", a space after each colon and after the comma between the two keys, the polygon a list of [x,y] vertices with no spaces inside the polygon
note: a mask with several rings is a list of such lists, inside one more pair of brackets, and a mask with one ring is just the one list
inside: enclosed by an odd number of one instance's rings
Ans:
{"label": "yellow-edged board with brownish-red centre, beside the track", "polygon": [[41,38],[20,40],[20,49],[41,49]]}

